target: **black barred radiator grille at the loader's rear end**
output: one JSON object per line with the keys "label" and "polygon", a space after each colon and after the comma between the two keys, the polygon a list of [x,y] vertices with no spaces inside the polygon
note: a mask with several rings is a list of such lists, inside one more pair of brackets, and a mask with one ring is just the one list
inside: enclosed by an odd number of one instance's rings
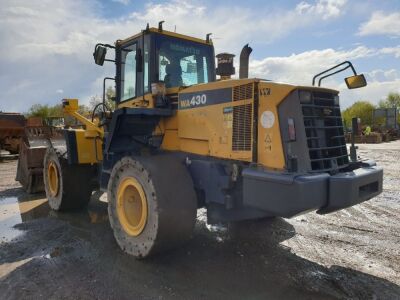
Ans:
{"label": "black barred radiator grille at the loader's rear end", "polygon": [[312,92],[311,102],[302,104],[312,171],[333,171],[349,164],[340,106],[334,97]]}

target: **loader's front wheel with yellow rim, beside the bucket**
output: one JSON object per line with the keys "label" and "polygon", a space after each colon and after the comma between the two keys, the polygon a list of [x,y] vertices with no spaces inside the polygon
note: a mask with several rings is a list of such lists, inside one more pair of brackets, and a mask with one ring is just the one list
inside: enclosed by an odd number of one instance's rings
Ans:
{"label": "loader's front wheel with yellow rim, beside the bucket", "polygon": [[92,166],[69,165],[54,148],[47,149],[43,179],[52,209],[63,211],[86,206],[93,190],[92,178]]}

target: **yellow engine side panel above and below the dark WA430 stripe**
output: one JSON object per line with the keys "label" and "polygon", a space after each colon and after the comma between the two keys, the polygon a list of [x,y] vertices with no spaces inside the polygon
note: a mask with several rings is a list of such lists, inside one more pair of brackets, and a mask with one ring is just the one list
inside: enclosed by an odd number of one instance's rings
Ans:
{"label": "yellow engine side panel above and below the dark WA430 stripe", "polygon": [[[198,84],[179,93],[232,88],[254,82],[252,79],[223,80]],[[190,109],[178,110],[176,115],[160,121],[165,129],[162,148],[199,155],[235,159],[250,162],[252,151],[232,151],[232,113],[223,113],[224,108],[253,103],[252,99],[226,102]]]}

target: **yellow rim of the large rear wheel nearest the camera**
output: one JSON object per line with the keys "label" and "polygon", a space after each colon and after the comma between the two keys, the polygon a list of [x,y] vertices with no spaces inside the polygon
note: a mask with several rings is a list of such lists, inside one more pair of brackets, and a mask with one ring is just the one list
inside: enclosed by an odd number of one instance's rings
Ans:
{"label": "yellow rim of the large rear wheel nearest the camera", "polygon": [[146,195],[142,185],[133,177],[125,178],[119,184],[117,215],[122,228],[131,236],[138,236],[146,226]]}

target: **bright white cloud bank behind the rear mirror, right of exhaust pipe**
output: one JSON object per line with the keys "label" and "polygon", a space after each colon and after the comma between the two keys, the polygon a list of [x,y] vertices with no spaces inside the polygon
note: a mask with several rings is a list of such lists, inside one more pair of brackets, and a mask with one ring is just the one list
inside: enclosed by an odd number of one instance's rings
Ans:
{"label": "bright white cloud bank behind the rear mirror, right of exhaust pipe", "polygon": [[[295,85],[311,85],[312,77],[315,74],[340,62],[351,60],[357,70],[358,59],[368,59],[382,54],[395,55],[395,50],[400,50],[400,46],[390,49],[391,51],[387,51],[387,48],[372,49],[358,46],[349,50],[311,50],[285,57],[251,60],[250,75]],[[327,78],[322,82],[322,86],[337,89],[341,92],[342,107],[347,107],[360,99],[378,103],[389,92],[400,92],[400,74],[396,69],[379,69],[365,73],[368,85],[357,90],[348,90],[343,82],[343,77],[348,74],[350,74],[350,71]]]}

